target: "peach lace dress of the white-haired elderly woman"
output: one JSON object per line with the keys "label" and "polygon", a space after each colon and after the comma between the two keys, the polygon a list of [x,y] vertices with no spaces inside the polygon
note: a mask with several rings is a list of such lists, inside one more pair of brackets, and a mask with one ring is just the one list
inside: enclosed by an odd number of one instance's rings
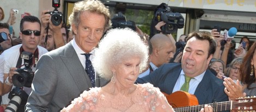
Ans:
{"label": "peach lace dress of the white-haired elderly woman", "polygon": [[84,91],[62,111],[172,111],[166,97],[152,84],[138,84],[129,96],[111,95],[101,88]]}

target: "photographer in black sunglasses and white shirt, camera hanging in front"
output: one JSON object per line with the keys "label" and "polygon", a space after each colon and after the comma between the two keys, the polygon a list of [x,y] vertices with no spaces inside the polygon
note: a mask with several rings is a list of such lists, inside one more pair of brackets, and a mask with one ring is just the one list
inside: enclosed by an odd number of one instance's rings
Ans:
{"label": "photographer in black sunglasses and white shirt, camera hanging in front", "polygon": [[[14,74],[20,74],[16,71],[18,68],[24,68],[25,59],[21,58],[22,52],[30,52],[33,54],[32,63],[29,66],[33,72],[35,72],[35,65],[39,57],[48,52],[45,48],[38,46],[40,42],[40,31],[41,24],[40,20],[35,16],[25,16],[21,20],[20,26],[20,38],[22,40],[22,44],[13,46],[7,50],[5,50],[2,55],[4,56],[4,89],[2,96],[2,104],[8,104],[10,99],[8,98],[8,94],[12,91],[12,88],[15,88],[16,85],[13,84],[13,76]],[[33,79],[33,78],[32,78]],[[31,88],[23,87],[21,92],[26,92],[27,96],[31,92]],[[26,95],[25,95],[26,96]],[[26,104],[26,100],[22,99],[21,105],[18,108],[18,111],[24,111],[24,106]]]}

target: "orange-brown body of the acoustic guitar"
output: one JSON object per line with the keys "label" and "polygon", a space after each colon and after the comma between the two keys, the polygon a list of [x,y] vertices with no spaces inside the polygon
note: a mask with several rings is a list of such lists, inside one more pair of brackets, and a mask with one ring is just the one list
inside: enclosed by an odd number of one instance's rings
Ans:
{"label": "orange-brown body of the acoustic guitar", "polygon": [[198,105],[197,97],[189,94],[188,92],[176,91],[170,95],[166,93],[163,94],[166,96],[168,103],[172,105],[173,108]]}

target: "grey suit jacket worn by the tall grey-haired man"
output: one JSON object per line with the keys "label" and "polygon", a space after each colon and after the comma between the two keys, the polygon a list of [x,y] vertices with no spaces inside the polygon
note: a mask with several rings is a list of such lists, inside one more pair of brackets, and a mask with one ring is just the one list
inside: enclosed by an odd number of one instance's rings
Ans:
{"label": "grey suit jacket worn by the tall grey-haired man", "polygon": [[[95,85],[106,80],[97,76]],[[71,42],[41,56],[36,65],[33,90],[26,111],[60,111],[84,90],[92,88]]]}

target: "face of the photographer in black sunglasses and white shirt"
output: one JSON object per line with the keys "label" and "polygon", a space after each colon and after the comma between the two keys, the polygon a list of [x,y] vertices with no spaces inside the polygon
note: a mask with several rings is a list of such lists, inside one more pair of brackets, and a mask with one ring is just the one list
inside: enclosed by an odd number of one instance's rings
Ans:
{"label": "face of the photographer in black sunglasses and white shirt", "polygon": [[[40,31],[40,24],[38,22],[24,22],[23,23],[23,31],[24,30],[32,30],[32,31]],[[40,42],[40,36],[34,35],[25,35],[20,32],[20,38],[22,40],[22,47],[27,52],[34,53]]]}

